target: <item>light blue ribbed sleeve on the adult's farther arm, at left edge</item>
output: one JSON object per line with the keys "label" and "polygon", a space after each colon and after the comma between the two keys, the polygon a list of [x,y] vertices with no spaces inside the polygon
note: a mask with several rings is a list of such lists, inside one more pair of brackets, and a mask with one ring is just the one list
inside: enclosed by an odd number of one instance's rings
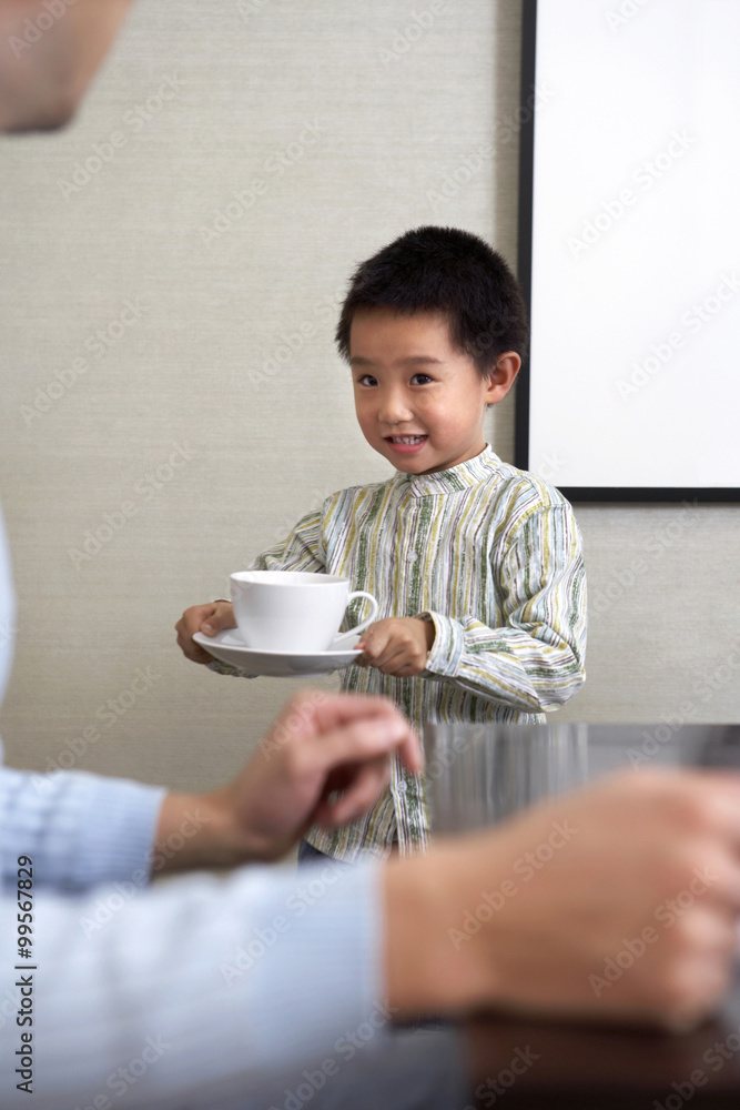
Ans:
{"label": "light blue ribbed sleeve on the adult's farther arm, at left edge", "polygon": [[33,775],[0,767],[2,887],[18,857],[33,860],[34,886],[81,890],[150,872],[164,790],[85,771]]}

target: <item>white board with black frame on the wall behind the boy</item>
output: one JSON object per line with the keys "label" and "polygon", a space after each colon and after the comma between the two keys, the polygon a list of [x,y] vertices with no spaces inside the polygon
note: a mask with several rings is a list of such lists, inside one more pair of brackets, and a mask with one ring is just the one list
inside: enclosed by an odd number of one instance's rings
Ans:
{"label": "white board with black frame on the wall behind the boy", "polygon": [[516,462],[740,500],[740,2],[524,0]]}

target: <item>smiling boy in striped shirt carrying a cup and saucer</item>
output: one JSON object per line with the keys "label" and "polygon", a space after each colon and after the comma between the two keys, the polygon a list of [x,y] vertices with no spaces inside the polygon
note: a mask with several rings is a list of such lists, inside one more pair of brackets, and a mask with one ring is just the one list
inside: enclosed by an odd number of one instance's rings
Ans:
{"label": "smiling boy in striped shirt carrying a cup and saucer", "polygon": [[[486,407],[508,393],[527,321],[504,260],[449,228],[407,232],[354,274],[336,332],[362,432],[395,467],[342,490],[254,563],[349,578],[379,602],[345,690],[381,693],[417,729],[434,722],[544,719],[582,685],[586,583],[570,505],[486,444]],[[187,609],[179,643],[233,627],[229,603]],[[219,669],[216,667],[216,669]],[[365,818],[307,844],[351,861],[426,844],[420,780],[394,768]],[[303,846],[302,857],[315,855]]]}

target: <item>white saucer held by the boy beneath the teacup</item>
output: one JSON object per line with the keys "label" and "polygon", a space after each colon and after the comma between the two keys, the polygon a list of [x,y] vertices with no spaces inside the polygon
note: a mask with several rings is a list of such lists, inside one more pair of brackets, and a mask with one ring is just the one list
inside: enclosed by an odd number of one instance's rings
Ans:
{"label": "white saucer held by the boy beneath the teacup", "polygon": [[[204,647],[214,659],[227,663],[247,675],[265,675],[270,678],[318,678],[331,675],[333,670],[342,670],[351,666],[362,652],[354,646],[359,643],[359,636],[345,633],[335,640],[335,647],[328,652],[312,652],[296,654],[293,652],[261,652],[255,647],[246,647],[235,628],[219,632],[215,636],[204,636],[196,632],[193,636],[196,644]],[[337,643],[338,640],[338,643]],[[342,646],[338,646],[338,645]]]}

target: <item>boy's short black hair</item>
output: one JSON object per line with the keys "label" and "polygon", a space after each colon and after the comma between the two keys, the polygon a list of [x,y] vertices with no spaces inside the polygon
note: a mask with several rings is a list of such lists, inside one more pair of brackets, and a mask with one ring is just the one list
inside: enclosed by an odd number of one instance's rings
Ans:
{"label": "boy's short black hair", "polygon": [[357,266],[336,329],[349,359],[349,329],[358,309],[399,315],[444,312],[453,344],[486,376],[499,354],[527,347],[527,310],[519,282],[483,239],[457,228],[417,228]]}

